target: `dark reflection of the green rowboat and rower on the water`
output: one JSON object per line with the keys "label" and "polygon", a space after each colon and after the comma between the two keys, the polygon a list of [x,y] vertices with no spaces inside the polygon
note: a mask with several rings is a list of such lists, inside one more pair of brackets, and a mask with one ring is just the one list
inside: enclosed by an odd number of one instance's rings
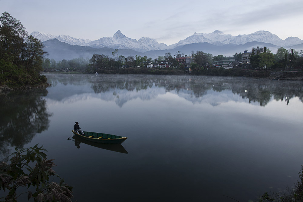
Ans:
{"label": "dark reflection of the green rowboat and rower on the water", "polygon": [[78,149],[80,148],[80,143],[84,143],[84,144],[88,144],[90,146],[95,146],[95,147],[105,149],[105,150],[111,150],[111,151],[120,152],[120,153],[128,153],[121,144],[94,143],[94,142],[90,142],[87,140],[83,140],[82,138],[79,138],[78,136],[75,136],[75,135],[72,138],[75,140],[75,146],[77,146]]}

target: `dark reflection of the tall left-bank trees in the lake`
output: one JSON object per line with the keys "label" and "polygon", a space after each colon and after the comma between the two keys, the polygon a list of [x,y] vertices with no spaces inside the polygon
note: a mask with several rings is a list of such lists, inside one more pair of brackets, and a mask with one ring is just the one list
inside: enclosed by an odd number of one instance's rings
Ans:
{"label": "dark reflection of the tall left-bank trees in the lake", "polygon": [[8,156],[11,147],[22,148],[36,133],[49,127],[46,89],[11,91],[0,94],[0,157]]}

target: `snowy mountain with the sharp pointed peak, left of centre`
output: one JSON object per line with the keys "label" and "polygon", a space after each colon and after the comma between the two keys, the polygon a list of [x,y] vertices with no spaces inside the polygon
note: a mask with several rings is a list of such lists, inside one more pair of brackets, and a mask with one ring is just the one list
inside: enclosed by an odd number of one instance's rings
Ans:
{"label": "snowy mountain with the sharp pointed peak, left of centre", "polygon": [[159,44],[156,39],[142,37],[137,41],[136,39],[126,37],[120,30],[112,37],[103,37],[88,43],[88,45],[94,48],[133,49],[141,52],[167,49],[166,44]]}

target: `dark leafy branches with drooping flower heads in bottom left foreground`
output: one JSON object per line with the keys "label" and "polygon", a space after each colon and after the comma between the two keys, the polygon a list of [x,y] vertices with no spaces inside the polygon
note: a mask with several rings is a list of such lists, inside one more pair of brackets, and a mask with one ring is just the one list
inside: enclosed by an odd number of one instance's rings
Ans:
{"label": "dark leafy branches with drooping flower heads in bottom left foreground", "polygon": [[[28,200],[34,198],[34,201],[68,201],[71,202],[72,188],[63,183],[52,167],[56,166],[54,159],[47,160],[45,149],[36,144],[30,148],[15,148],[12,153],[11,163],[0,162],[0,190],[8,190],[8,195],[4,201],[17,201],[22,194],[28,194]],[[35,166],[32,168],[29,164]],[[50,182],[50,176],[60,178],[60,183]],[[35,192],[27,191],[17,196],[19,187],[34,187]]]}

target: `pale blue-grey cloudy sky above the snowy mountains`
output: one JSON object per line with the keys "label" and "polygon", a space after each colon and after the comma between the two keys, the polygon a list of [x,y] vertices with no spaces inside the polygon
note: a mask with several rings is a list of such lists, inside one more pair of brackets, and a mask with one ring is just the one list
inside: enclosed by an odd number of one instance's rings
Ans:
{"label": "pale blue-grey cloudy sky above the snowy mountains", "polygon": [[269,31],[281,39],[303,39],[303,0],[0,0],[33,31],[97,40],[118,30],[132,39],[171,45],[197,33]]}

